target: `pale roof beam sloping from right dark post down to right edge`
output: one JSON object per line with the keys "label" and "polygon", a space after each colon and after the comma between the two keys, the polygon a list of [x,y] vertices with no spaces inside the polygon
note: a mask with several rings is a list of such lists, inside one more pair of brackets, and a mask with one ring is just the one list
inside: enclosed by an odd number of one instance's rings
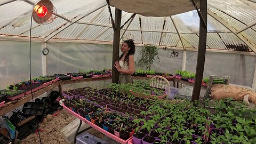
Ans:
{"label": "pale roof beam sloping from right dark post down to right edge", "polygon": [[242,34],[237,34],[237,30],[231,27],[225,20],[215,14],[213,11],[208,9],[208,14],[211,15],[212,18],[219,21],[223,26],[229,29],[233,34],[235,34],[241,41],[243,41],[254,53],[256,53],[256,46],[254,47],[253,43],[250,43],[248,39],[246,39]]}

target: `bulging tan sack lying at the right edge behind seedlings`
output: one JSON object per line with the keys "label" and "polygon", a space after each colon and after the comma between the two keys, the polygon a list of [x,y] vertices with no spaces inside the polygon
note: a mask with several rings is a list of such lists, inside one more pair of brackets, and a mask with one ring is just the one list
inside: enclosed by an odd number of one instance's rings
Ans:
{"label": "bulging tan sack lying at the right edge behind seedlings", "polygon": [[234,100],[243,100],[244,95],[248,94],[248,100],[256,105],[256,93],[245,87],[235,85],[213,84],[211,88],[212,98],[214,100],[233,98]]}

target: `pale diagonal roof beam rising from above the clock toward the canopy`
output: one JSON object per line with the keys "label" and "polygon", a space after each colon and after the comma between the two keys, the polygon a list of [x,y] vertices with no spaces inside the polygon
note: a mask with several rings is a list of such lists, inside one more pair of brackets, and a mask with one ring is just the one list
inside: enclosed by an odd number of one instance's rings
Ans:
{"label": "pale diagonal roof beam rising from above the clock toward the canopy", "polygon": [[[96,9],[94,11],[97,11],[99,9],[101,9],[103,6],[105,6],[107,4],[103,4],[102,5],[97,5],[97,7],[95,7]],[[52,37],[54,37],[55,35],[59,34],[62,30],[65,30],[66,28],[68,28],[69,26],[73,25],[75,22],[83,19],[84,17],[86,17],[87,15],[93,13],[94,11],[91,10],[86,10],[86,13],[83,15],[78,15],[76,18],[74,18],[73,20],[71,20],[71,22],[67,22],[64,25],[62,25],[62,27],[60,27],[59,29],[55,30],[52,34],[50,34],[49,36],[45,37],[44,42],[49,41],[49,39],[51,39]]]}

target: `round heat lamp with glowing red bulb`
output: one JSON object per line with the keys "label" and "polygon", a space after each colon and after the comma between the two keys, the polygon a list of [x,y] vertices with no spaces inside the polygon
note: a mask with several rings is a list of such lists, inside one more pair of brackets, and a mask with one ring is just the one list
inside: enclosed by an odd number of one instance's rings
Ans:
{"label": "round heat lamp with glowing red bulb", "polygon": [[39,1],[33,7],[32,17],[36,23],[47,25],[56,18],[56,8],[49,0]]}

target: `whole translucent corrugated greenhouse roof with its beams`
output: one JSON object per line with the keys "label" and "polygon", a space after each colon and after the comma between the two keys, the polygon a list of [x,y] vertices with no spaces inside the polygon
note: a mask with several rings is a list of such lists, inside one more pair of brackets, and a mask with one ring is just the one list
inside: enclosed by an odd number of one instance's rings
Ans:
{"label": "whole translucent corrugated greenhouse roof with its beams", "polygon": [[[31,11],[36,2],[2,0],[0,37],[29,37]],[[52,39],[113,42],[114,31],[105,0],[51,2],[57,9],[58,17],[49,25],[39,25],[33,21],[31,37],[44,42],[50,42]],[[254,0],[208,0],[207,6],[206,49],[256,51]],[[166,9],[169,9],[168,6]],[[115,7],[111,7],[111,13],[114,18]],[[132,14],[122,11],[121,26]],[[123,27],[121,35],[128,25]],[[137,44],[197,49],[199,17],[195,10],[170,17],[144,17],[136,14],[123,38],[132,38]]]}

